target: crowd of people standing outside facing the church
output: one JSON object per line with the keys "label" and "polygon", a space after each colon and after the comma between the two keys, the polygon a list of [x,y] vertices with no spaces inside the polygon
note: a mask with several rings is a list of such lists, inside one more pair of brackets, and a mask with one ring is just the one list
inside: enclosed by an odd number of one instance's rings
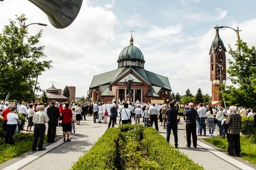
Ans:
{"label": "crowd of people standing outside facing the church", "polygon": [[[180,116],[179,108],[183,108],[184,121],[186,122],[187,145],[191,147],[191,135],[193,147],[197,146],[197,136],[206,136],[206,126],[209,127],[207,136],[214,136],[214,130],[218,126],[218,136],[226,135],[228,141],[228,154],[231,156],[240,154],[240,130],[241,117],[254,116],[254,127],[256,128],[255,111],[247,108],[236,108],[234,106],[227,107],[216,105],[205,105],[193,103],[179,105],[179,103],[170,102],[168,104],[142,103],[138,100],[135,103],[130,102],[86,102],[79,103],[58,103],[51,101],[49,105],[43,103],[9,103],[1,102],[0,112],[3,116],[3,127],[6,131],[5,142],[14,144],[12,136],[20,120],[16,113],[21,113],[27,117],[28,132],[32,132],[33,128],[33,144],[32,150],[45,150],[43,147],[43,138],[46,131],[45,124],[48,123],[47,142],[56,142],[56,128],[62,126],[63,141],[70,142],[69,135],[76,135],[75,125],[80,125],[81,120],[86,120],[86,116],[93,116],[94,123],[108,124],[108,128],[117,124],[128,124],[132,120],[135,124],[141,121],[145,127],[153,126],[159,131],[160,126],[166,129],[166,140],[169,142],[171,130],[174,135],[175,147],[178,147],[178,123]],[[227,118],[225,119],[224,116]],[[108,121],[109,117],[109,121]],[[197,131],[196,131],[197,129]],[[73,132],[72,132],[73,131]],[[223,134],[224,132],[224,134]],[[39,139],[39,143],[37,144]]]}

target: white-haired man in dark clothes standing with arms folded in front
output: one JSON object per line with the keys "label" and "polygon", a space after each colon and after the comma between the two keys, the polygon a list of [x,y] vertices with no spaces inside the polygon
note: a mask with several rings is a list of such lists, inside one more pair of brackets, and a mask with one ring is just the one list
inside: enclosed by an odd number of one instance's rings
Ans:
{"label": "white-haired man in dark clothes standing with arms folded in front", "polygon": [[189,109],[185,113],[186,133],[187,133],[187,143],[188,143],[186,147],[189,147],[189,148],[191,146],[191,133],[192,133],[193,147],[196,148],[196,145],[197,145],[196,116],[197,116],[197,111],[194,110],[193,103],[190,103]]}

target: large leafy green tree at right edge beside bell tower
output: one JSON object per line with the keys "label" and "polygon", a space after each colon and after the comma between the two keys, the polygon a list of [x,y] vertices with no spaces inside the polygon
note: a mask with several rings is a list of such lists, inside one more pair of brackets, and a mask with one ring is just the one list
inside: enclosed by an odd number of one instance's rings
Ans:
{"label": "large leafy green tree at right edge beside bell tower", "polygon": [[[232,60],[228,59],[229,68],[227,73],[234,85],[226,86],[224,98],[228,105],[256,107],[256,48],[251,49],[242,40],[237,41],[237,50],[229,45],[228,53]],[[239,54],[241,50],[241,55]]]}

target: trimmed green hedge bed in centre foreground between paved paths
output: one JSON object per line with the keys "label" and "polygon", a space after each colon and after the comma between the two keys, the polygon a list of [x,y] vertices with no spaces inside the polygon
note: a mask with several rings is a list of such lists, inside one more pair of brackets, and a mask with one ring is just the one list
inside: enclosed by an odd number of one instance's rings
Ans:
{"label": "trimmed green hedge bed in centre foreground between paved paths", "polygon": [[152,127],[108,129],[72,170],[203,170]]}

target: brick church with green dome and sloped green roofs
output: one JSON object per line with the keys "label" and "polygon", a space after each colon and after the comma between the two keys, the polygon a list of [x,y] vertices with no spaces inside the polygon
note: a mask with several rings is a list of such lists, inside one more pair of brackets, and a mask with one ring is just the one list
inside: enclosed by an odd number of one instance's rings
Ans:
{"label": "brick church with green dome and sloped green roofs", "polygon": [[118,59],[118,68],[94,76],[90,85],[92,101],[150,102],[151,100],[171,100],[171,86],[167,77],[144,69],[144,56],[139,48],[130,45],[124,48]]}

